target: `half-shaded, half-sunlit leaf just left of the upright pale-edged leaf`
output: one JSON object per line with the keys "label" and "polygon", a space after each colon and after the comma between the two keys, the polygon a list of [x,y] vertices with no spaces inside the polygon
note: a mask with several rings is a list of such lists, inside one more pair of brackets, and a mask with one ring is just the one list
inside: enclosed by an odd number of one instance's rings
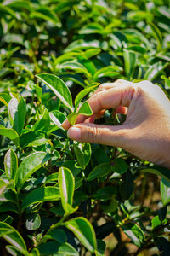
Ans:
{"label": "half-shaded, half-sunlit leaf just left of the upright pale-edged leaf", "polygon": [[59,199],[60,193],[59,189],[56,187],[34,189],[26,195],[26,198],[21,205],[21,209],[24,210],[32,204],[37,204],[43,201],[58,201]]}

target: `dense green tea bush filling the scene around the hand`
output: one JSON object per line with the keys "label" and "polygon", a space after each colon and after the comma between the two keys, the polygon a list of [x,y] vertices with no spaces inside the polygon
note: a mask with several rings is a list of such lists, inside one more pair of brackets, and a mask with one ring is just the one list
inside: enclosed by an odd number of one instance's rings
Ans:
{"label": "dense green tea bush filling the scene around the hand", "polygon": [[169,255],[169,170],[61,126],[101,83],[170,96],[169,1],[1,0],[0,20],[1,255]]}

